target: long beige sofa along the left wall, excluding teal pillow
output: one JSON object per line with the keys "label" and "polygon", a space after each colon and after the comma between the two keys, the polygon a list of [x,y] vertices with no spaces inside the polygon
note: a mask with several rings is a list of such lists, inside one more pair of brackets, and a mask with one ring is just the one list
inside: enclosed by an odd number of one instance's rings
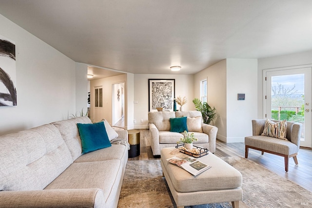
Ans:
{"label": "long beige sofa along the left wall, excluding teal pillow", "polygon": [[[77,123],[92,122],[77,117],[0,136],[1,208],[117,207],[127,146],[81,154]],[[107,133],[128,139],[127,131]]]}

